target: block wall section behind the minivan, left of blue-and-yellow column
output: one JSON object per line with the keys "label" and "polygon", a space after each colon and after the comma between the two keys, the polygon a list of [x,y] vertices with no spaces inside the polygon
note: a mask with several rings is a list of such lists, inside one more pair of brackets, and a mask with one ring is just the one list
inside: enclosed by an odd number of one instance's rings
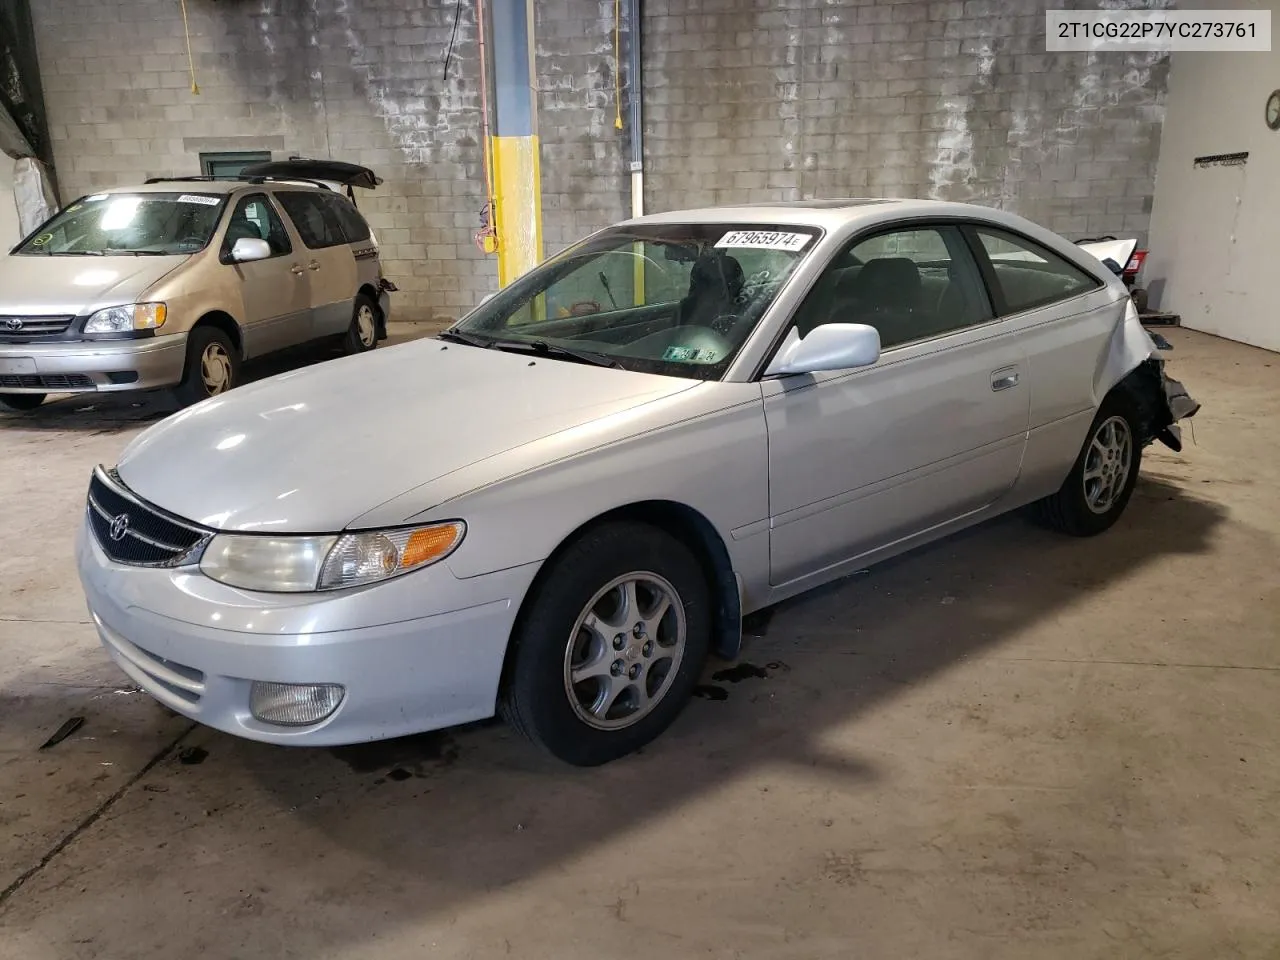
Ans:
{"label": "block wall section behind the minivan, left of blue-and-yellow column", "polygon": [[493,259],[472,239],[484,205],[474,4],[188,0],[187,9],[198,96],[177,3],[33,5],[64,200],[198,174],[201,152],[351,160],[385,180],[357,202],[401,289],[398,319],[452,319],[497,287]]}

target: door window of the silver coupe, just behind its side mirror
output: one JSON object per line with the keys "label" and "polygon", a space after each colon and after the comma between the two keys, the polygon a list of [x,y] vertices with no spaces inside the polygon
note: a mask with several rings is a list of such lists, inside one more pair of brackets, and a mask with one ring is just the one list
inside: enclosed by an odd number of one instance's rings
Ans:
{"label": "door window of the silver coupe, just behind its side mirror", "polygon": [[819,324],[869,324],[887,349],[991,319],[960,230],[916,227],[854,241],[819,278],[794,323],[801,337]]}

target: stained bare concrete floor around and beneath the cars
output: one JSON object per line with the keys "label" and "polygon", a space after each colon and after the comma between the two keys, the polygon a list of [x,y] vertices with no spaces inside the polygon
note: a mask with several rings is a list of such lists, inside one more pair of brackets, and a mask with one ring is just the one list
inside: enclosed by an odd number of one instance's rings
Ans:
{"label": "stained bare concrete floor around and beneath the cars", "polygon": [[70,561],[155,410],[4,420],[0,956],[1280,956],[1280,357],[1170,339],[1198,443],[1116,529],[1007,517],[787,603],[765,676],[595,771],[168,714]]}

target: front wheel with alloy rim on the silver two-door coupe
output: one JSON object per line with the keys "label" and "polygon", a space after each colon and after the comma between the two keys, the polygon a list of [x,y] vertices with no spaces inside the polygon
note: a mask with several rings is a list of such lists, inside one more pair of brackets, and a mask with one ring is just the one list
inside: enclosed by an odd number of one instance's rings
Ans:
{"label": "front wheel with alloy rim on the silver two-door coupe", "polygon": [[710,635],[710,591],[692,552],[648,524],[602,525],[535,586],[512,637],[499,710],[566,763],[616,760],[676,719]]}

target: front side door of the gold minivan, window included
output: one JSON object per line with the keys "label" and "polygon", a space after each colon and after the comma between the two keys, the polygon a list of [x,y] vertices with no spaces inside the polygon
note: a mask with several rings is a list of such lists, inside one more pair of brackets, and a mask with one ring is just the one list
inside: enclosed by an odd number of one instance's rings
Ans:
{"label": "front side door of the gold minivan, window included", "polygon": [[[236,241],[246,237],[266,241],[271,256],[247,264],[233,261]],[[250,193],[236,204],[227,221],[220,260],[239,292],[246,356],[261,356],[307,339],[311,326],[307,271],[293,259],[293,241],[265,193]]]}

